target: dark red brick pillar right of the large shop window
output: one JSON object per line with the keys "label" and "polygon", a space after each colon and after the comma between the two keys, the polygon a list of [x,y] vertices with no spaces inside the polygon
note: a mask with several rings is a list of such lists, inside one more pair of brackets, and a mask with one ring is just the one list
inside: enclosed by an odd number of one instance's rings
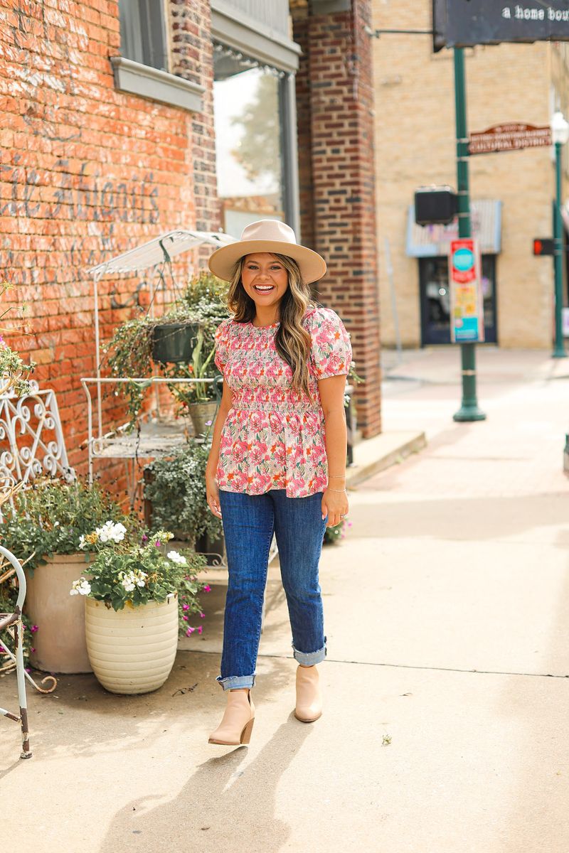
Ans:
{"label": "dark red brick pillar right of the large shop window", "polygon": [[[328,262],[318,293],[351,334],[358,423],[380,432],[380,330],[375,238],[373,84],[369,0],[350,12],[293,10],[301,44],[297,100],[303,240]],[[308,130],[310,127],[310,131]],[[308,154],[311,152],[311,154]]]}

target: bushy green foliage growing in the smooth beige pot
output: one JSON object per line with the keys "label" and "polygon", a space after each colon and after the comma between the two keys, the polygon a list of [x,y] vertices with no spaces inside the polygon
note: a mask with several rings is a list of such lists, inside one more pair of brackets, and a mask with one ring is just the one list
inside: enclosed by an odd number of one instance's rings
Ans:
{"label": "bushy green foliage growing in the smooth beige pot", "polygon": [[13,507],[5,504],[3,514],[3,546],[32,572],[54,554],[76,554],[81,537],[107,519],[135,524],[100,485],[81,479],[34,480],[18,492]]}

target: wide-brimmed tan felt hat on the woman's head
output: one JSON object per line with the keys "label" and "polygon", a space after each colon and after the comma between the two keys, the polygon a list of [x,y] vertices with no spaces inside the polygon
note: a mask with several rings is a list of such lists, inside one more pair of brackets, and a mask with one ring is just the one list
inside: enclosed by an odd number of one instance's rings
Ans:
{"label": "wide-brimmed tan felt hat on the woman's head", "polygon": [[229,243],[212,253],[209,268],[214,276],[230,281],[236,262],[253,252],[272,252],[293,258],[306,284],[318,281],[326,272],[324,258],[312,249],[299,246],[293,229],[276,219],[258,219],[247,225],[239,242]]}

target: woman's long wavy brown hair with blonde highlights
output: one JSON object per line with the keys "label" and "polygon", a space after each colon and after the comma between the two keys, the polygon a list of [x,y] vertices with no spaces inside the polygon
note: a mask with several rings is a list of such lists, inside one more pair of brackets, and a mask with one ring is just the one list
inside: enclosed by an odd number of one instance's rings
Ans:
{"label": "woman's long wavy brown hair with blonde highlights", "polygon": [[[271,252],[272,254],[272,252]],[[302,325],[307,308],[316,308],[311,299],[311,288],[300,275],[299,264],[287,255],[274,254],[288,275],[288,287],[279,304],[280,326],[276,331],[275,344],[278,354],[293,371],[293,390],[305,392],[312,398],[308,384],[308,360],[311,355],[311,335]],[[235,322],[252,322],[256,309],[253,299],[247,294],[241,281],[241,272],[247,255],[235,264],[233,278],[229,283],[227,307]]]}

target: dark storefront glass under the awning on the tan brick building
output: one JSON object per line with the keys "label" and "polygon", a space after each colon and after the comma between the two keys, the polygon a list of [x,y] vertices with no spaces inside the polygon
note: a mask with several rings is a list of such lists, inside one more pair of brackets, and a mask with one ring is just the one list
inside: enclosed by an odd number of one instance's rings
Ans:
{"label": "dark storefront glass under the awning on the tan brick building", "polygon": [[[448,258],[420,258],[422,345],[450,344]],[[482,256],[486,343],[496,344],[496,255]]]}

